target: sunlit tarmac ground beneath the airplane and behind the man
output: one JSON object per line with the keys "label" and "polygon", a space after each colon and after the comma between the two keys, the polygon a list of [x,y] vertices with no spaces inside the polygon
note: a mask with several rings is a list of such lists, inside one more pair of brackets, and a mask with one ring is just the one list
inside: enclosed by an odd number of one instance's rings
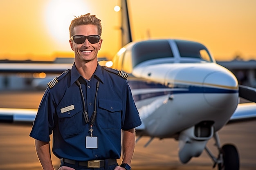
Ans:
{"label": "sunlit tarmac ground beneath the airplane and behind the man", "polygon": [[[0,108],[37,108],[43,92],[0,92]],[[36,157],[34,139],[29,137],[31,125],[0,124],[0,170],[42,170]],[[230,124],[219,132],[221,144],[235,144],[240,154],[240,170],[256,169],[256,121]],[[178,159],[178,142],[174,139],[144,137],[136,144],[132,170],[212,170],[213,163],[206,152],[187,164]],[[207,146],[214,155],[217,150],[210,140]],[[56,169],[59,159],[52,155]],[[120,162],[120,160],[119,160]],[[218,168],[214,168],[217,170]]]}

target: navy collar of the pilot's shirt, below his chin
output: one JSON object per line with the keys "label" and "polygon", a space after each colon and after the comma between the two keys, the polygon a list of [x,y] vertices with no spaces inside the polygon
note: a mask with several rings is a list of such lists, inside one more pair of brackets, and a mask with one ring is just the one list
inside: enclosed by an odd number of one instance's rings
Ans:
{"label": "navy collar of the pilot's shirt, below his chin", "polygon": [[[72,66],[72,69],[71,69],[71,79],[70,79],[70,85],[72,85],[74,82],[76,82],[77,79],[79,79],[80,77],[80,73],[77,71],[76,69],[76,66],[75,66],[75,63],[73,64]],[[102,70],[101,70],[101,66],[97,65],[97,68],[95,70],[95,72],[93,73],[92,75],[92,78],[93,77],[98,77],[98,79],[103,83],[104,82],[104,77],[103,77],[103,74],[102,74]]]}

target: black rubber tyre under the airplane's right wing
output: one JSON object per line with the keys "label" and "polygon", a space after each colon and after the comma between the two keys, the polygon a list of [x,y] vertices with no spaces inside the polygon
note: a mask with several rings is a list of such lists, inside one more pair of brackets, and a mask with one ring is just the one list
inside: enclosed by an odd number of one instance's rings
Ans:
{"label": "black rubber tyre under the airplane's right wing", "polygon": [[239,170],[239,155],[236,147],[231,144],[222,146],[223,166],[218,164],[219,170]]}

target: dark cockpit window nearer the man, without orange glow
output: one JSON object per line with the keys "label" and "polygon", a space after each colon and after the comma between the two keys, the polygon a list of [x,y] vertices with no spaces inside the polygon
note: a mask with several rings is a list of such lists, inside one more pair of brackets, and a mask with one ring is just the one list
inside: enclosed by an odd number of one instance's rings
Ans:
{"label": "dark cockpit window nearer the man, without orange glow", "polygon": [[144,41],[135,44],[132,51],[133,67],[146,60],[173,57],[167,40]]}

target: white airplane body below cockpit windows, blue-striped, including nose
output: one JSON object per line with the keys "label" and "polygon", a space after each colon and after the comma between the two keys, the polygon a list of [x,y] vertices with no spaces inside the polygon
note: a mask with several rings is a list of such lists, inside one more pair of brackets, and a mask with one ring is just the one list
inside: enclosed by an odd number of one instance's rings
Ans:
{"label": "white airplane body below cockpit windows, blue-striped, including nose", "polygon": [[[132,75],[132,94],[150,136],[172,137],[201,121],[213,121],[218,131],[238,104],[236,77],[215,63],[137,66]],[[132,82],[143,85],[133,88]]]}

